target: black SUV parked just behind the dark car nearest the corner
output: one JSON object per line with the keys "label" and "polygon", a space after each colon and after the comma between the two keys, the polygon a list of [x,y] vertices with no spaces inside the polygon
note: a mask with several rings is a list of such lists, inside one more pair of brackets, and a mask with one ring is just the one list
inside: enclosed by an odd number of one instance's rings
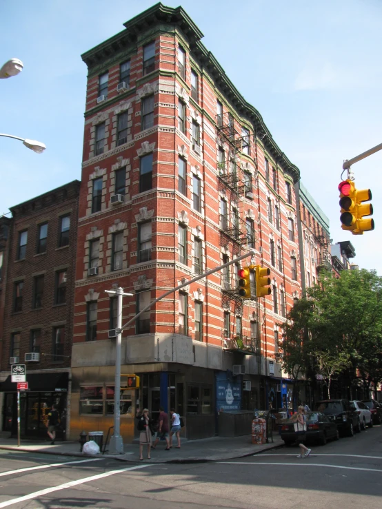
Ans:
{"label": "black SUV parked just behind the dark car nearest the corner", "polygon": [[348,399],[325,399],[316,403],[316,411],[326,415],[336,426],[341,435],[352,437],[354,430],[361,431],[359,415],[350,406]]}

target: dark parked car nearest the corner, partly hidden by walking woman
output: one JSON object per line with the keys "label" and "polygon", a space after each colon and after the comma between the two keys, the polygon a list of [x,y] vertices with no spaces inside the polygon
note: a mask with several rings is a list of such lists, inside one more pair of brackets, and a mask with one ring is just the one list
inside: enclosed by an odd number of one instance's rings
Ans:
{"label": "dark parked car nearest the corner, partly hidden by walking woman", "polygon": [[[281,438],[285,445],[292,445],[296,442],[294,424],[283,424],[280,431]],[[339,430],[336,423],[332,422],[326,415],[319,412],[308,412],[306,415],[306,440],[307,442],[319,442],[325,445],[329,439],[338,440]]]}

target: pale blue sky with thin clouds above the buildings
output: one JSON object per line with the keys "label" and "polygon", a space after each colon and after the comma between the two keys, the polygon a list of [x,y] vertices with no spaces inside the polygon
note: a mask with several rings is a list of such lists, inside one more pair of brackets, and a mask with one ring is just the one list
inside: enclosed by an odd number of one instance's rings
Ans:
{"label": "pale blue sky with thin clouds above the buildings", "polygon": [[[86,64],[81,54],[123,30],[149,0],[1,0],[0,65],[23,61],[0,80],[0,132],[43,141],[35,154],[0,137],[0,215],[81,179]],[[382,143],[382,0],[183,0],[230,80],[254,105],[330,219],[333,242],[382,275],[382,151],[352,166],[370,188],[374,231],[342,231],[343,160]],[[346,176],[346,174],[345,174]]]}

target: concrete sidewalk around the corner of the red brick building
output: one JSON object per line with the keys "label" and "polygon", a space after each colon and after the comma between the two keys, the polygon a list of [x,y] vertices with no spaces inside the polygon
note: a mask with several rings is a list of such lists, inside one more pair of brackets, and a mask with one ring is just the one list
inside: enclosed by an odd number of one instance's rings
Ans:
{"label": "concrete sidewalk around the corner of the red brick building", "polygon": [[[79,456],[78,442],[57,442],[54,446],[50,442],[21,440],[20,447],[17,447],[17,439],[8,438],[8,433],[0,433],[0,449],[19,450],[27,453],[43,453],[51,455]],[[277,448],[284,444],[279,435],[273,436],[273,444],[262,446],[252,445],[251,435],[243,437],[212,437],[201,440],[188,440],[182,442],[181,448],[165,450],[165,442],[159,442],[157,448],[151,451],[150,463],[203,463],[206,461],[226,461],[228,459],[241,458],[259,454],[263,450]],[[174,444],[175,445],[175,444]],[[103,457],[114,458],[119,461],[139,461],[139,446],[135,444],[124,444],[125,454],[109,455],[107,452]],[[143,457],[147,456],[147,448],[143,448]],[[98,457],[101,457],[99,455]],[[145,458],[145,461],[148,461]]]}

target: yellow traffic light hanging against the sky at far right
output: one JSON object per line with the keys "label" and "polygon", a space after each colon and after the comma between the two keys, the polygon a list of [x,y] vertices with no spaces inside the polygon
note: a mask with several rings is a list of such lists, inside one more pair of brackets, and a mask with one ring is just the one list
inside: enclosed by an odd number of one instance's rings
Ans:
{"label": "yellow traffic light hanging against the sky at far right", "polygon": [[372,199],[370,189],[358,190],[353,180],[343,180],[339,184],[341,207],[341,228],[350,230],[353,235],[362,235],[364,231],[374,230],[374,220],[364,219],[364,216],[371,216],[373,207],[371,203],[363,202]]}

